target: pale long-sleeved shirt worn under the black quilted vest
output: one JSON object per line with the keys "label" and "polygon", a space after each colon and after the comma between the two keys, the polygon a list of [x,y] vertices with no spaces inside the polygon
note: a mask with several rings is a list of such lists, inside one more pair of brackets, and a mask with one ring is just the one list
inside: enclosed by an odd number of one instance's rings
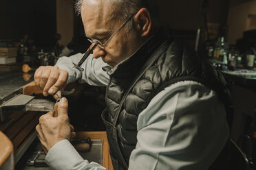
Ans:
{"label": "pale long-sleeved shirt worn under the black quilted vest", "polygon": [[[105,63],[89,56],[81,73],[72,64],[81,57],[82,54],[64,57],[56,65],[68,71],[68,82],[79,79],[106,86],[109,77],[101,69]],[[131,152],[129,170],[208,169],[229,134],[226,112],[215,91],[193,81],[177,82],[153,97],[138,116],[137,130],[138,142]],[[83,160],[67,140],[56,143],[45,161],[52,169],[105,169]]]}

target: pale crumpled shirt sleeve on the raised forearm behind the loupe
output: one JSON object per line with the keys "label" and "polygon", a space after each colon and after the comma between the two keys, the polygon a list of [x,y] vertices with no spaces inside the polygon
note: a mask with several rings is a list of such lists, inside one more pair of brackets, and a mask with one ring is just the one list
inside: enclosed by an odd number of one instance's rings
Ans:
{"label": "pale crumpled shirt sleeve on the raised forearm behind the loupe", "polygon": [[78,64],[81,58],[83,58],[83,54],[77,53],[70,57],[61,57],[56,62],[55,65],[58,66],[59,69],[67,71],[67,84],[79,80],[81,83],[86,82],[92,86],[107,86],[109,75],[102,69],[103,66],[107,66],[107,64],[105,64],[101,58],[95,59],[90,55],[81,65],[84,69],[84,71],[81,72],[78,71],[73,64],[73,62]]}

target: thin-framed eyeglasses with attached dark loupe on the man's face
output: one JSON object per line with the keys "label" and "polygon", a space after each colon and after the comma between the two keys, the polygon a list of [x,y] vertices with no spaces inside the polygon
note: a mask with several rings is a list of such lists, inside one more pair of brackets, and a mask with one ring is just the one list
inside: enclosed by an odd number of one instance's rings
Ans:
{"label": "thin-framed eyeglasses with attached dark loupe on the man's face", "polygon": [[[131,19],[133,15],[131,15],[126,21],[125,23],[127,23],[129,21],[129,19]],[[94,44],[92,47],[90,46],[89,49],[87,49],[87,51],[85,52],[85,55],[83,56],[83,58],[81,58],[81,60],[78,62],[78,64],[74,63],[74,67],[76,69],[78,69],[78,71],[82,71],[83,72],[83,68],[81,68],[81,65],[83,64],[83,62],[85,62],[86,58],[92,53],[92,51],[94,51],[94,49],[98,46],[100,47],[101,49],[105,49],[105,45],[107,44],[107,42],[109,42],[109,40],[119,31],[119,29],[121,29],[125,23],[123,23],[117,30],[116,32],[114,32],[114,34],[112,34],[109,39],[103,44],[102,42],[100,42],[99,40],[96,40],[96,39],[89,39],[89,42],[92,42],[92,44]]]}

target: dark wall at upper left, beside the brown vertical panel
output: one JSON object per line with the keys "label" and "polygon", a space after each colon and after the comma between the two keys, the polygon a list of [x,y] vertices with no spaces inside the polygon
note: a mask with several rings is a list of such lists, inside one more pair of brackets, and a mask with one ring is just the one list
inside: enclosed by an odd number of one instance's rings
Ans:
{"label": "dark wall at upper left, beside the brown vertical panel", "polygon": [[55,44],[56,2],[54,0],[0,1],[0,39],[20,40],[24,34],[36,46]]}

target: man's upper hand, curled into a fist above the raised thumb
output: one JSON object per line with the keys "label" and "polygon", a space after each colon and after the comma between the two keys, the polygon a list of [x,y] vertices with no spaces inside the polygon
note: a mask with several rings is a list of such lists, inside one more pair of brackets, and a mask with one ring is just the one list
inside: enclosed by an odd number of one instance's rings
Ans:
{"label": "man's upper hand, curled into a fist above the raised thumb", "polygon": [[65,88],[68,73],[58,66],[40,66],[34,73],[36,86],[43,90],[43,95],[54,95],[58,90]]}

